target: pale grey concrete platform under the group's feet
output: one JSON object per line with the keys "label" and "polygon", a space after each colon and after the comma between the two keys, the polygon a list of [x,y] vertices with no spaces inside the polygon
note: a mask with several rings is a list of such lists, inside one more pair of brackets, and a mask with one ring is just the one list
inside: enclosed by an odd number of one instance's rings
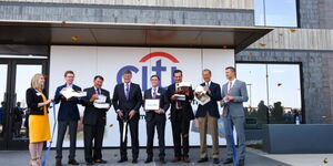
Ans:
{"label": "pale grey concrete platform under the group's feet", "polygon": [[[210,151],[211,152],[211,151]],[[124,164],[118,164],[117,160],[119,159],[119,149],[103,149],[103,159],[108,160],[108,164],[103,164],[103,166],[133,166],[131,163],[131,156],[129,155],[129,163]],[[47,165],[52,166],[54,165],[54,155],[56,152],[51,151],[50,155],[48,156],[47,159]],[[129,152],[130,154],[130,152]],[[67,165],[67,157],[68,157],[68,151],[63,152],[64,158],[62,159],[62,163]],[[158,149],[154,149],[154,156],[158,159]],[[224,159],[225,157],[225,148],[221,148],[221,159]],[[215,164],[212,163],[212,159],[210,159],[208,163],[204,164],[198,164],[196,160],[199,159],[199,148],[191,148],[190,149],[190,157],[191,157],[191,163],[190,164],[184,164],[184,163],[176,163],[173,164],[171,163],[171,158],[173,157],[173,151],[171,148],[167,149],[167,164],[164,166],[216,166]],[[140,149],[140,156],[139,156],[139,163],[137,165],[147,165],[147,166],[161,166],[163,164],[160,164],[158,160],[153,162],[151,164],[144,164],[145,159],[145,149]],[[1,166],[27,166],[29,160],[29,152],[28,151],[1,151],[0,152],[0,165]],[[84,163],[84,157],[83,157],[83,151],[79,149],[77,152],[77,160],[80,163],[80,165],[85,165]],[[101,164],[102,165],[102,164]],[[219,164],[219,166],[223,165],[222,163]],[[245,160],[246,166],[290,166],[289,164],[284,164],[282,162],[279,162],[276,159],[272,159],[270,157],[264,156],[263,154],[260,154],[255,151],[248,151],[248,156]],[[232,164],[228,165],[232,166]]]}

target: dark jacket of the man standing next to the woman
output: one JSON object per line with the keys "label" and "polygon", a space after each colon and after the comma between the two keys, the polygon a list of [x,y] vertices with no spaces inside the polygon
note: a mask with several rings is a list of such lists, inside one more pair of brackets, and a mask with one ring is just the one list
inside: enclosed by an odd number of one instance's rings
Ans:
{"label": "dark jacket of the man standing next to the woman", "polygon": [[[78,108],[78,104],[82,104],[82,102],[79,98],[70,98],[69,101],[65,100],[61,94],[60,91],[65,87],[67,85],[61,85],[57,87],[56,95],[54,95],[54,102],[58,104],[60,101],[60,107],[58,112],[58,121],[79,121],[80,120],[80,113]],[[73,84],[74,91],[82,91],[81,87]]]}

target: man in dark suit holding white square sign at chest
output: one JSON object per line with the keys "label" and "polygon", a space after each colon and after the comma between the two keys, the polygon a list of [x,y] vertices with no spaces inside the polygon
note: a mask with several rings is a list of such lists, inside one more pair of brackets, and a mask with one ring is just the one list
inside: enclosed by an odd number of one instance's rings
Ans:
{"label": "man in dark suit holding white square sign at chest", "polygon": [[152,75],[150,77],[151,89],[144,91],[143,100],[154,98],[160,101],[159,110],[145,110],[145,122],[147,122],[147,159],[144,163],[151,163],[153,159],[153,142],[155,127],[159,135],[159,147],[160,147],[160,162],[165,163],[165,142],[164,142],[164,131],[165,131],[165,113],[169,108],[169,101],[167,96],[167,91],[160,87],[160,77],[158,75]]}

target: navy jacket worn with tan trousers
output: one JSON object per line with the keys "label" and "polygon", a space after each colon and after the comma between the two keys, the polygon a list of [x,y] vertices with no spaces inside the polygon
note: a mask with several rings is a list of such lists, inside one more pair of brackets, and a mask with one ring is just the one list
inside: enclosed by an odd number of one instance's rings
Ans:
{"label": "navy jacket worn with tan trousers", "polygon": [[[204,86],[205,84],[202,83],[201,85]],[[209,89],[211,92],[208,93],[208,95],[211,97],[211,101],[204,105],[198,106],[195,117],[204,117],[206,115],[206,112],[209,112],[209,114],[213,117],[220,117],[218,101],[222,100],[221,86],[220,84],[211,82]]]}

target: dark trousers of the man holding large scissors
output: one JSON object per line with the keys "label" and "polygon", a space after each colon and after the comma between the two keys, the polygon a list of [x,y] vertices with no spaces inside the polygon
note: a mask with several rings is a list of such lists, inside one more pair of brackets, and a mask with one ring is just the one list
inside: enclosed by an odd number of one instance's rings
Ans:
{"label": "dark trousers of the man holding large scissors", "polygon": [[[128,131],[131,134],[131,143],[132,143],[132,156],[133,158],[139,157],[139,118],[132,118],[128,122]],[[123,131],[123,121],[119,121],[119,131],[120,131],[120,155],[121,158],[128,158],[128,136],[123,142],[122,131]]]}

